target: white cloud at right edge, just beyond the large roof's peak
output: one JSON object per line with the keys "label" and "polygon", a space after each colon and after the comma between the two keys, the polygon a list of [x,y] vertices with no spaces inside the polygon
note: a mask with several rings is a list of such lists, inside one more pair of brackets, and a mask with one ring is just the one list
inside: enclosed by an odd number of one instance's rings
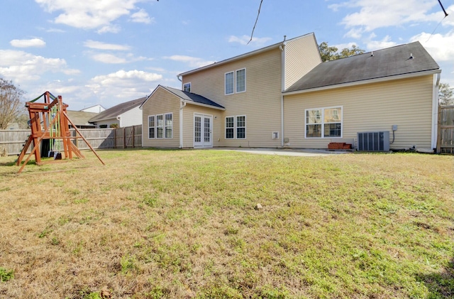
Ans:
{"label": "white cloud at right edge, just beyond the large roof's peak", "polygon": [[438,62],[454,61],[454,31],[445,36],[441,34],[431,35],[430,33],[420,33],[410,38],[411,42],[419,40],[421,45],[431,54],[433,59]]}

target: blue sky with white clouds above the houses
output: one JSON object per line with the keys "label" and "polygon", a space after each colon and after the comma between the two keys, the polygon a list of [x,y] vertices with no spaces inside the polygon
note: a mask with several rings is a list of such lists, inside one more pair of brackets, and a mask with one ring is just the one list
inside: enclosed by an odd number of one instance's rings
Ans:
{"label": "blue sky with white clouds above the houses", "polygon": [[177,74],[314,32],[340,50],[419,40],[454,87],[454,1],[441,0],[3,0],[0,77],[62,95],[69,109],[106,108]]}

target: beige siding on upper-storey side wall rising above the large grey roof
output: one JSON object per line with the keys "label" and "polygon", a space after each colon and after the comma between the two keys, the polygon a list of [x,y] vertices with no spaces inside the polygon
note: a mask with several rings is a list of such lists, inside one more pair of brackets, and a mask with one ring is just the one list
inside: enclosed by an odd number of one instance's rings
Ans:
{"label": "beige siding on upper-storey side wall rising above the large grey roof", "polygon": [[314,34],[294,38],[285,44],[285,84],[287,89],[321,63]]}

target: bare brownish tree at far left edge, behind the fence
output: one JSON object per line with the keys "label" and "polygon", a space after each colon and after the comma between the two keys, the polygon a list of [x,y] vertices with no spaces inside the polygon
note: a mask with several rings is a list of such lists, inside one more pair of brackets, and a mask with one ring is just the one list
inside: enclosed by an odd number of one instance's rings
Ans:
{"label": "bare brownish tree at far left edge, behind the fence", "polygon": [[13,81],[0,78],[0,129],[6,129],[22,112],[22,89],[13,85]]}

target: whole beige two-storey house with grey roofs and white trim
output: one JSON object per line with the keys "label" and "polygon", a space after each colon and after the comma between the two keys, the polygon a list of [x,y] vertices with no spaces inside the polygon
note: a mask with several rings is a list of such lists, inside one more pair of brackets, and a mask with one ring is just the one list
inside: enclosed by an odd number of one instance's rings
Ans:
{"label": "whole beige two-storey house with grey roofs and white trim", "polygon": [[440,73],[418,42],[322,63],[310,33],[184,72],[183,91],[158,86],[143,146],[328,148],[391,131],[391,148],[432,149]]}

